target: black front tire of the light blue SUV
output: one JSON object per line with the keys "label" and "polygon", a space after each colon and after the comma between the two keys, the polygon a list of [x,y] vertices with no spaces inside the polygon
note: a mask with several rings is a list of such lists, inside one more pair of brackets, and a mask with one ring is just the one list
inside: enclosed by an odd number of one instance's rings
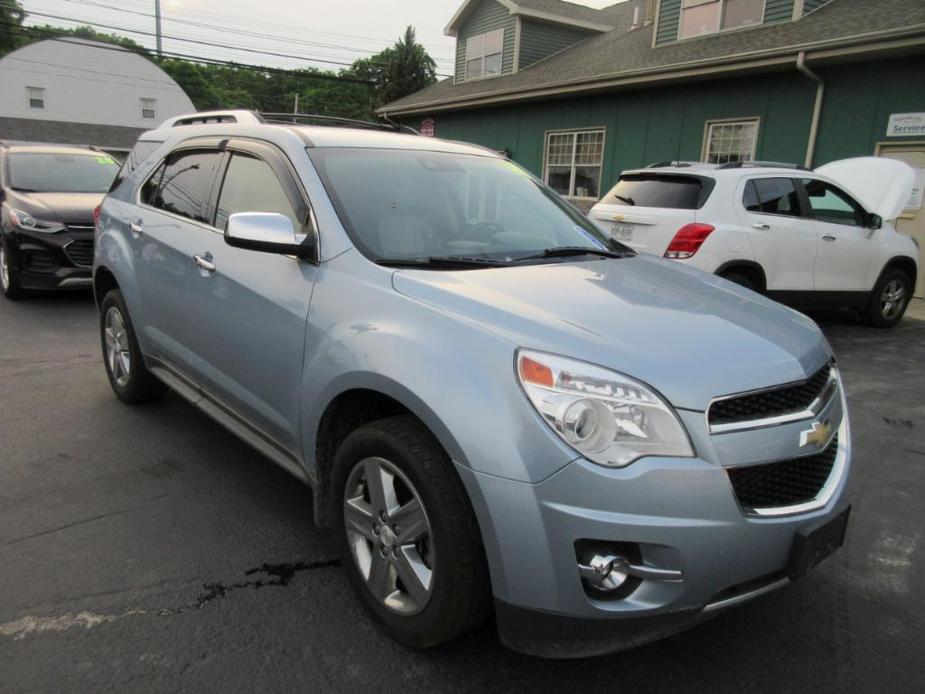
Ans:
{"label": "black front tire of the light blue SUV", "polygon": [[[349,544],[345,521],[347,485],[351,482],[351,489],[355,489],[353,473],[365,469],[360,464],[372,458],[388,461],[410,481],[428,521],[431,589],[429,599],[414,614],[400,614],[374,595]],[[475,628],[489,616],[488,568],[475,515],[449,457],[417,419],[392,417],[350,434],[334,459],[331,498],[335,506],[331,517],[344,570],[364,607],[390,637],[415,648],[430,648]],[[396,532],[401,530],[397,523],[394,527]],[[375,551],[372,541],[364,544]],[[385,551],[384,544],[381,548]]]}

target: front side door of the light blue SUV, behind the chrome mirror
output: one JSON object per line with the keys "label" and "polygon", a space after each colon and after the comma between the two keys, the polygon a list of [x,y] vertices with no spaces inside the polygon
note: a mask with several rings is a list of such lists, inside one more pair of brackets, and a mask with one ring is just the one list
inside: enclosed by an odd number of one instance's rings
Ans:
{"label": "front side door of the light blue SUV, behind the chrome mirror", "polygon": [[280,151],[235,140],[227,150],[214,220],[195,230],[190,246],[190,263],[201,260],[190,275],[185,341],[203,391],[301,457],[302,357],[317,266],[233,248],[224,230],[236,212],[278,212],[296,231],[314,233],[312,216]]}

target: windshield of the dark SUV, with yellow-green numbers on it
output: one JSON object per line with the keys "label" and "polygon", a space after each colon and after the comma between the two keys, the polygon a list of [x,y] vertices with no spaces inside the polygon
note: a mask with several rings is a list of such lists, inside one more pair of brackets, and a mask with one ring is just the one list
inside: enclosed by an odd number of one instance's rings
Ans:
{"label": "windshield of the dark SUV, with yellow-green numbers on it", "polygon": [[10,187],[31,193],[105,193],[119,165],[106,155],[10,154]]}

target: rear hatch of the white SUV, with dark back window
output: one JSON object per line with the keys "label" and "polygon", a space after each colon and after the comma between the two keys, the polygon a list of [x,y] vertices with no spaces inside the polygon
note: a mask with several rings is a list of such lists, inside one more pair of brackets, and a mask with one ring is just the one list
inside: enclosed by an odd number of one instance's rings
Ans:
{"label": "rear hatch of the white SUV, with dark back window", "polygon": [[697,221],[716,182],[709,176],[631,171],[593,208],[589,216],[615,240],[642,253],[663,255],[685,224]]}

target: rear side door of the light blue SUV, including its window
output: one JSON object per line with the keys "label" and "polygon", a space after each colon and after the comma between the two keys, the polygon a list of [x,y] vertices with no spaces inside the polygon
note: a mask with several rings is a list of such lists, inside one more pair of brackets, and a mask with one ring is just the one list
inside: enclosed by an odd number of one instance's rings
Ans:
{"label": "rear side door of the light blue SUV, including its window", "polygon": [[188,373],[187,291],[195,232],[207,228],[212,186],[222,154],[190,147],[172,152],[128,207],[129,243],[142,310],[145,353]]}

